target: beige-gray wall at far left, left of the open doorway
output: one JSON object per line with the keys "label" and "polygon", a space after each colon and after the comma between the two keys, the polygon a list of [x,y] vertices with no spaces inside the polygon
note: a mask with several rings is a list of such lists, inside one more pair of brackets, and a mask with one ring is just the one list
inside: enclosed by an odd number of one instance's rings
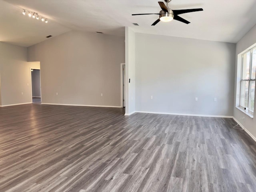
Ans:
{"label": "beige-gray wall at far left, left of the open doorway", "polygon": [[0,42],[0,72],[2,106],[31,102],[26,47]]}

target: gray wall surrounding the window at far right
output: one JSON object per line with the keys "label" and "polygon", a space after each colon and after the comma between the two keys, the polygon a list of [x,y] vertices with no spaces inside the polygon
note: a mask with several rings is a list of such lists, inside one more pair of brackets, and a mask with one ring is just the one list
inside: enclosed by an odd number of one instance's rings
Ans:
{"label": "gray wall surrounding the window at far right", "polygon": [[[237,87],[237,56],[250,46],[256,43],[256,25],[247,32],[247,34],[236,44],[236,76],[235,76],[235,94],[236,98],[236,87]],[[239,94],[239,93],[238,93]],[[254,102],[254,109],[256,109],[256,102]],[[255,112],[254,112],[255,116]],[[242,120],[241,118],[245,118]],[[234,102],[234,118],[240,122],[254,137],[256,137],[256,119],[250,118],[240,110],[236,108],[236,103]]]}

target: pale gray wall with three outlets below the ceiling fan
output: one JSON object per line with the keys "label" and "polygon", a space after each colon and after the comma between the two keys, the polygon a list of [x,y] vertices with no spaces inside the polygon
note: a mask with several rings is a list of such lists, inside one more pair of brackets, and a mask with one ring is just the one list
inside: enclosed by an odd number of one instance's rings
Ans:
{"label": "pale gray wall with three outlets below the ceiling fan", "polygon": [[136,33],[135,49],[136,111],[233,116],[235,44]]}

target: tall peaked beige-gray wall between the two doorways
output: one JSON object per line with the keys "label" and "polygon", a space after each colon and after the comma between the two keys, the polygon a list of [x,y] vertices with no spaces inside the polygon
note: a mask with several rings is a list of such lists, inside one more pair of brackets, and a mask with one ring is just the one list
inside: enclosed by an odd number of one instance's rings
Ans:
{"label": "tall peaked beige-gray wall between the two doorways", "polygon": [[40,61],[43,103],[121,104],[124,37],[71,31],[29,47],[28,60]]}

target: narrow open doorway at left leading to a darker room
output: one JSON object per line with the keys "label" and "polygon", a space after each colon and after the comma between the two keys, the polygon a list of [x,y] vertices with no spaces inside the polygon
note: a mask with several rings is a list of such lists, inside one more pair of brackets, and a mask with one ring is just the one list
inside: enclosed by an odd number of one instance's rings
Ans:
{"label": "narrow open doorway at left leading to a darker room", "polygon": [[32,103],[41,104],[41,76],[39,69],[31,69]]}

